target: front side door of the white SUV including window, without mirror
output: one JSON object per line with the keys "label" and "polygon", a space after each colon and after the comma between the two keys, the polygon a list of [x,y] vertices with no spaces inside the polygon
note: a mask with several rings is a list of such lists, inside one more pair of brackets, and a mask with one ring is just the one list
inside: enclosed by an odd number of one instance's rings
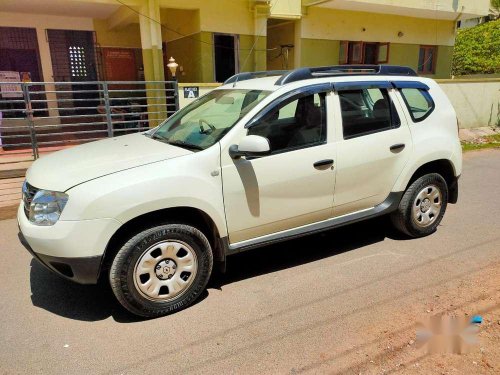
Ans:
{"label": "front side door of the white SUV including window, without mirror", "polygon": [[330,84],[285,94],[250,121],[242,135],[266,137],[269,155],[231,159],[229,146],[222,150],[231,244],[331,217],[335,147],[328,128],[330,94]]}

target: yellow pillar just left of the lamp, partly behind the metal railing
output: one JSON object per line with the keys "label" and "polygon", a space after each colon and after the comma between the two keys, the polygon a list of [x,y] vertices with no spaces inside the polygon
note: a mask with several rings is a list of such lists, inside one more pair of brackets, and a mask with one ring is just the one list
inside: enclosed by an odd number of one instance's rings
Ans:
{"label": "yellow pillar just left of the lamp, partly behind the metal railing", "polygon": [[[141,13],[147,16],[139,17],[144,79],[146,81],[164,81],[160,0],[144,0],[141,5]],[[163,88],[163,86],[160,84],[146,85],[149,112],[166,111],[165,92],[154,90],[159,88]],[[166,117],[166,112],[150,114],[149,126],[155,127]]]}

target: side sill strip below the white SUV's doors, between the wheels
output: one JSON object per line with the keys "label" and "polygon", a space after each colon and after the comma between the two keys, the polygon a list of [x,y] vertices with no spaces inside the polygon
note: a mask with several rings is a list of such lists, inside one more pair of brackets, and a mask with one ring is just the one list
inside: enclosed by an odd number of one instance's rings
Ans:
{"label": "side sill strip below the white SUV's doors, between the wheels", "polygon": [[242,251],[254,249],[257,247],[271,245],[276,242],[287,241],[293,238],[307,236],[309,234],[320,233],[333,228],[338,228],[347,224],[358,221],[371,219],[377,216],[382,216],[395,211],[404,192],[391,192],[389,196],[380,204],[367,210],[353,212],[351,214],[335,217],[332,219],[320,221],[313,224],[304,225],[298,228],[289,229],[286,231],[271,233],[262,237],[253,238],[246,241],[229,244],[228,237],[221,240],[228,245],[225,246],[228,255],[236,254]]}

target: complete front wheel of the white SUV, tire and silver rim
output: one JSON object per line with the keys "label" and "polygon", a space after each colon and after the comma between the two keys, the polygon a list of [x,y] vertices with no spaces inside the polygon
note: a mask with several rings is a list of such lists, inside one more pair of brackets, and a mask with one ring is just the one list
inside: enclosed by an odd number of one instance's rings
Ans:
{"label": "complete front wheel of the white SUV, tire and silver rim", "polygon": [[212,249],[202,232],[168,224],[147,229],[123,245],[109,279],[127,310],[156,317],[192,304],[205,290],[212,266]]}

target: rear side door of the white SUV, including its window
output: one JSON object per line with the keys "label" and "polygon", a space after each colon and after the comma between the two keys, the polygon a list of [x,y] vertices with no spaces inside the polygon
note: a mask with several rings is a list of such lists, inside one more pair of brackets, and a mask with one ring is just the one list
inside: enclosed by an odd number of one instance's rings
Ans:
{"label": "rear side door of the white SUV, including its window", "polygon": [[334,216],[382,203],[412,152],[412,138],[390,82],[335,85],[342,119],[338,141]]}

